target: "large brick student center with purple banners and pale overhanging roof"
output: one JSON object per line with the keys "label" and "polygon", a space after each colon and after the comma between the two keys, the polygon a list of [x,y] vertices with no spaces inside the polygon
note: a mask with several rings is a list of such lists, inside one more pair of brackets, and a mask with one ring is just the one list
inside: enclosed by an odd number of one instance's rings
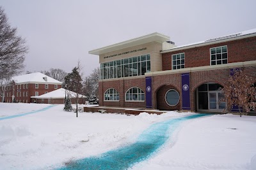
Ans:
{"label": "large brick student center with purple banners and pale overhanging roof", "polygon": [[89,53],[99,55],[99,106],[221,112],[232,69],[256,82],[256,29],[182,46],[156,32]]}

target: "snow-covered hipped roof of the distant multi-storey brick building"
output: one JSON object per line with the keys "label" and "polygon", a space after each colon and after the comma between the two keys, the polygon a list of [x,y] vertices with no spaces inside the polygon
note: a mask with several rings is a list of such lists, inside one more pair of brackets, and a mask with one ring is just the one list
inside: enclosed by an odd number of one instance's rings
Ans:
{"label": "snow-covered hipped roof of the distant multi-storey brick building", "polygon": [[[46,77],[46,78],[45,78]],[[54,78],[51,78],[43,73],[37,72],[37,73],[30,73],[30,74],[24,74],[20,76],[14,76],[12,78],[15,83],[56,83],[56,84],[62,84],[61,81],[55,80]]]}

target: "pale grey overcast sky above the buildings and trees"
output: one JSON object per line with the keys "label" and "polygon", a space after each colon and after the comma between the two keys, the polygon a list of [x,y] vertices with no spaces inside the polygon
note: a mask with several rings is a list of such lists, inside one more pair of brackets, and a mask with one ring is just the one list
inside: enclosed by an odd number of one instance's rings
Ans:
{"label": "pale grey overcast sky above the buildings and trees", "polygon": [[256,1],[1,0],[8,21],[26,38],[25,71],[60,68],[81,60],[84,74],[99,66],[88,51],[160,32],[175,45],[256,28]]}

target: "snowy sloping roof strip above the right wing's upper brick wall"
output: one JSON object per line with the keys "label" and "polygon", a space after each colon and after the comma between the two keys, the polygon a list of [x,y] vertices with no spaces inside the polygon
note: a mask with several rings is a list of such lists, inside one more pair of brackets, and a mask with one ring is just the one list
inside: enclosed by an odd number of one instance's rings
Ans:
{"label": "snowy sloping roof strip above the right wing's upper brick wall", "polygon": [[205,44],[205,43],[211,43],[211,42],[214,42],[214,41],[220,41],[220,40],[229,39],[229,38],[237,38],[237,37],[246,36],[246,35],[255,34],[255,33],[256,33],[256,29],[250,29],[250,30],[243,31],[243,32],[237,32],[235,34],[229,34],[227,36],[220,36],[218,38],[211,38],[211,39],[207,39],[205,41],[199,41],[199,42],[196,42],[196,43],[191,43],[191,44],[188,44],[188,45],[175,46],[173,48],[170,48],[169,50],[164,50],[162,53],[169,52],[169,51],[172,51],[172,50],[178,50],[179,48],[186,48],[186,47],[189,48],[190,46],[193,46],[193,45],[202,45],[202,44]]}

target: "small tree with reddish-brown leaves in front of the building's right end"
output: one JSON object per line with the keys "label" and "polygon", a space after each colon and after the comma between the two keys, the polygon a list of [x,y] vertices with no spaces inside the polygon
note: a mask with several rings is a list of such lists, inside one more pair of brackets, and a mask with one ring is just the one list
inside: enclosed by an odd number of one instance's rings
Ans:
{"label": "small tree with reddish-brown leaves in front of the building's right end", "polygon": [[237,106],[240,117],[256,108],[255,78],[250,77],[241,69],[234,69],[234,75],[230,76],[227,85],[223,88],[227,110]]}

